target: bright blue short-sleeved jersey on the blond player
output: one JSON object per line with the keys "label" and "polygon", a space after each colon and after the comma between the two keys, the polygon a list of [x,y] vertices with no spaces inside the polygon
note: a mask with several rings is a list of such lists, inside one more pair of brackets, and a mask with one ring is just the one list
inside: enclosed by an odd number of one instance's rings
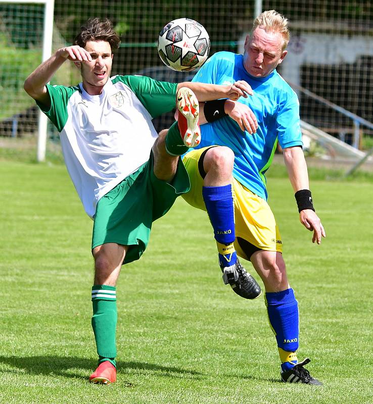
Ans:
{"label": "bright blue short-sleeved jersey on the blond player", "polygon": [[213,84],[232,84],[247,81],[254,94],[240,97],[258,120],[257,132],[243,132],[229,117],[201,126],[202,141],[197,148],[218,144],[230,147],[235,153],[233,175],[252,192],[267,199],[264,173],[269,168],[277,145],[282,148],[302,146],[297,94],[274,70],[266,77],[247,73],[243,55],[230,52],[214,54],[198,71],[192,81]]}

